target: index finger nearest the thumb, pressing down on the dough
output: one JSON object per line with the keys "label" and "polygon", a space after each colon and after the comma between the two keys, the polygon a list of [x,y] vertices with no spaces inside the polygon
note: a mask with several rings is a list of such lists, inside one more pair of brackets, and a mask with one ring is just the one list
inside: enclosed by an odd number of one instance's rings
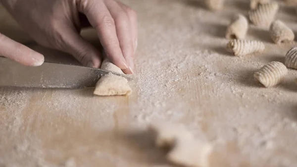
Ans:
{"label": "index finger nearest the thumb, pressing down on the dough", "polygon": [[121,69],[127,69],[116,34],[115,22],[103,1],[78,0],[78,8],[96,29],[101,45],[110,61]]}

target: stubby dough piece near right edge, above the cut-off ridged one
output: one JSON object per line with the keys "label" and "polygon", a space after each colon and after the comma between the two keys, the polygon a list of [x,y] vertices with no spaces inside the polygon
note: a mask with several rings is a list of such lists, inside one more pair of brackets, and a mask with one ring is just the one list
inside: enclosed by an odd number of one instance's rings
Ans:
{"label": "stubby dough piece near right edge, above the cut-off ridged one", "polygon": [[293,31],[280,20],[276,20],[271,24],[269,34],[276,44],[289,43],[294,41],[295,38]]}

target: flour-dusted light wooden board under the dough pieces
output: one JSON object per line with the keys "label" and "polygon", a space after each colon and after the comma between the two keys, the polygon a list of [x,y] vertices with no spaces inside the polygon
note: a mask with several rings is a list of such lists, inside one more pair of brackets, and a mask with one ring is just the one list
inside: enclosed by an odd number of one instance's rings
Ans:
{"label": "flour-dusted light wooden board under the dough pieces", "polygon": [[[216,12],[192,0],[124,2],[139,17],[133,94],[0,88],[1,167],[171,167],[141,131],[153,120],[183,123],[201,140],[227,142],[226,155],[241,157],[230,156],[229,167],[240,159],[242,167],[296,166],[297,71],[290,69],[274,88],[253,79],[264,64],[284,62],[296,43],[275,45],[268,31],[251,26],[247,39],[264,42],[264,53],[228,55],[226,27],[233,14],[247,14],[247,0],[229,0]],[[297,32],[294,8],[282,4],[277,18]],[[1,33],[49,60],[69,62],[22,35],[2,8],[0,23]],[[98,45],[94,31],[83,34]],[[123,130],[128,127],[137,131]]]}

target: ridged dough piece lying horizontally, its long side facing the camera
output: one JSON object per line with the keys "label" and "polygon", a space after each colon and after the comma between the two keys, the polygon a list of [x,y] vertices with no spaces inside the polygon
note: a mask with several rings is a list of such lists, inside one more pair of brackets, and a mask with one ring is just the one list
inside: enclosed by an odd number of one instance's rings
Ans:
{"label": "ridged dough piece lying horizontally, its long side facing the camera", "polygon": [[260,41],[231,40],[227,44],[227,50],[235,56],[245,56],[257,52],[262,52],[265,46]]}

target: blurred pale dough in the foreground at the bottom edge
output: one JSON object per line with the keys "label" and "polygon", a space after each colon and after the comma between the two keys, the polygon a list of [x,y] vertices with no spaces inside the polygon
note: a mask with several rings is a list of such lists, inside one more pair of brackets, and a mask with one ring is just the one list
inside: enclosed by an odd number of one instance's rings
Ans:
{"label": "blurred pale dough in the foreground at the bottom edge", "polygon": [[156,146],[170,148],[166,155],[169,162],[186,167],[209,166],[209,155],[213,146],[195,140],[185,127],[170,123],[153,123],[149,129],[155,134]]}

